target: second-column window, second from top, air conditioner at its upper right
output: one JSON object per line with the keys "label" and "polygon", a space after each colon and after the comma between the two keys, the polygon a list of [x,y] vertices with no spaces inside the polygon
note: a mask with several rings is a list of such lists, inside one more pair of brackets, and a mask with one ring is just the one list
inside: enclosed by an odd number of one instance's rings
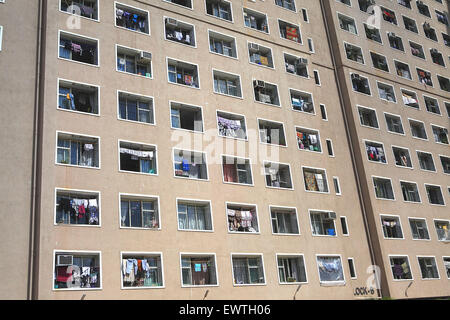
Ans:
{"label": "second-column window, second from top, air conditioner at its upper right", "polygon": [[152,77],[152,54],[117,46],[117,71]]}

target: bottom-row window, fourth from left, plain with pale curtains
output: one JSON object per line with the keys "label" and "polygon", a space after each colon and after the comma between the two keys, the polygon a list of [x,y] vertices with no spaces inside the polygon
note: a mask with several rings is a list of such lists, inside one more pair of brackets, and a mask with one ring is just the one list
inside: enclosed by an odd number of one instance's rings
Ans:
{"label": "bottom-row window, fourth from left, plain with pale curtains", "polygon": [[235,285],[265,284],[262,255],[231,255]]}

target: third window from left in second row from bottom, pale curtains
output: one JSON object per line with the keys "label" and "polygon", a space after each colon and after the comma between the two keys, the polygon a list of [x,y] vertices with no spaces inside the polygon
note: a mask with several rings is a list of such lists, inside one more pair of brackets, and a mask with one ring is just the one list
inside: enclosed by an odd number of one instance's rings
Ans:
{"label": "third window from left in second row from bottom, pale curtains", "polygon": [[211,202],[177,199],[178,230],[212,231]]}

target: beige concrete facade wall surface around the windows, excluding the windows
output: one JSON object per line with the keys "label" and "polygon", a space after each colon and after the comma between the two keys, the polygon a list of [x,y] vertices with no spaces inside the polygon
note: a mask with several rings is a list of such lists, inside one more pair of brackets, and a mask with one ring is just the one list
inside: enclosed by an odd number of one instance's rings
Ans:
{"label": "beige concrete facade wall surface around the windows, excluding the windows", "polygon": [[[23,1],[23,0],[22,0]],[[16,1],[14,6],[25,6],[22,1]],[[10,47],[30,45],[21,52],[29,54],[22,61],[23,70],[35,70],[36,41],[35,33],[28,31],[30,41],[17,43],[14,33],[9,31],[14,22],[6,16],[7,10],[27,12],[30,15],[29,28],[35,30],[38,24],[38,5],[36,8],[14,7],[6,0],[0,3],[0,25],[3,24],[3,45],[0,51],[0,66],[12,65]],[[357,294],[364,291],[361,288],[371,286],[372,273],[367,269],[373,264],[382,265],[382,290],[385,295],[404,298],[404,290],[409,282],[392,280],[389,266],[389,255],[408,255],[413,273],[413,285],[408,289],[409,297],[448,296],[449,279],[444,269],[444,256],[450,256],[448,242],[438,241],[433,219],[449,219],[448,203],[450,185],[448,175],[443,173],[438,155],[449,155],[448,145],[434,143],[430,124],[449,128],[449,118],[444,101],[450,101],[449,93],[439,89],[435,74],[449,77],[448,70],[432,65],[429,61],[422,62],[412,58],[408,52],[405,40],[414,38],[417,43],[426,40],[420,36],[410,35],[402,27],[395,27],[395,33],[404,39],[406,53],[394,53],[388,45],[373,45],[373,50],[386,55],[391,62],[393,58],[408,62],[411,70],[415,65],[430,71],[434,78],[433,88],[423,88],[417,81],[415,71],[413,81],[403,81],[391,74],[375,71],[369,66],[368,50],[371,44],[366,44],[361,33],[365,14],[358,9],[356,0],[352,7],[338,1],[324,1],[320,6],[310,0],[296,0],[296,11],[293,12],[275,4],[275,1],[229,1],[231,3],[233,20],[231,22],[206,14],[205,1],[192,0],[193,8],[185,8],[166,1],[156,0],[123,0],[120,2],[98,0],[98,19],[78,18],[60,10],[60,1],[42,1],[44,3],[43,20],[45,21],[44,46],[44,82],[40,83],[43,93],[39,110],[42,114],[40,126],[41,150],[38,154],[42,163],[38,173],[39,202],[35,208],[29,204],[32,199],[28,184],[33,167],[33,158],[28,159],[20,170],[23,179],[17,179],[13,172],[5,172],[2,178],[15,179],[22,183],[16,191],[2,182],[2,202],[5,201],[7,211],[17,212],[17,219],[24,217],[25,221],[33,221],[30,212],[39,213],[38,223],[30,227],[20,223],[16,218],[2,219],[1,230],[2,251],[5,250],[8,259],[2,259],[1,270],[9,270],[7,261],[17,260],[24,270],[17,270],[23,275],[31,263],[29,261],[30,229],[38,235],[34,248],[38,260],[31,268],[32,290],[25,280],[20,282],[20,288],[15,282],[8,283],[7,290],[0,290],[1,298],[11,298],[9,292],[14,292],[13,298],[26,299],[26,291],[34,292],[35,299],[80,299],[86,294],[86,299],[202,299],[209,290],[208,299],[292,299],[298,287],[296,284],[281,284],[278,276],[277,255],[302,255],[306,269],[306,281],[302,283],[296,299],[360,299],[376,298],[377,292]],[[353,3],[354,2],[354,3]],[[387,3],[391,3],[386,1]],[[435,4],[436,3],[436,4]],[[116,25],[115,5],[137,8],[139,12],[148,14],[149,32],[144,34],[121,28]],[[436,8],[440,6],[432,1]],[[432,7],[430,5],[430,7]],[[387,4],[386,4],[387,6]],[[392,8],[395,7],[395,8]],[[264,13],[268,18],[269,33],[255,31],[245,27],[243,8]],[[302,9],[305,10],[308,22],[304,20]],[[326,11],[324,16],[323,10]],[[403,9],[392,4],[391,9],[400,13]],[[440,9],[439,9],[440,10]],[[442,10],[444,10],[442,8]],[[341,32],[337,22],[336,12],[353,17],[358,23],[357,36]],[[448,10],[447,10],[448,11]],[[408,11],[410,17],[416,13]],[[432,14],[434,14],[434,9]],[[24,15],[25,16],[25,15]],[[195,47],[166,40],[164,37],[164,18],[175,18],[183,23],[195,26]],[[434,17],[434,16],[433,16]],[[325,20],[326,19],[326,20]],[[282,20],[298,25],[301,30],[302,44],[281,38],[279,21]],[[417,19],[420,20],[420,19]],[[423,19],[422,19],[423,20]],[[6,21],[6,23],[3,23]],[[24,20],[25,21],[25,20]],[[73,29],[70,22],[79,22],[79,28]],[[328,21],[334,34],[327,31],[324,21]],[[33,22],[33,24],[31,24]],[[433,27],[441,28],[436,21]],[[401,22],[399,21],[399,25]],[[383,25],[384,27],[384,25]],[[235,39],[237,58],[225,57],[210,52],[208,32],[224,34]],[[14,33],[12,33],[14,32]],[[445,32],[442,29],[442,32]],[[93,66],[63,59],[59,56],[60,35],[74,35],[97,43],[98,65]],[[439,33],[440,34],[440,33]],[[385,36],[385,35],[384,35]],[[440,37],[440,35],[438,35]],[[308,48],[308,39],[312,39],[314,50]],[[330,39],[330,42],[327,41]],[[384,39],[383,39],[384,40]],[[343,41],[363,48],[366,65],[356,65],[346,60]],[[440,52],[448,52],[448,47],[433,43]],[[271,49],[274,68],[268,68],[251,63],[249,60],[248,43],[254,42]],[[117,46],[143,50],[152,54],[152,76],[143,77],[117,71]],[[425,46],[425,43],[424,43]],[[431,46],[427,44],[426,47]],[[446,51],[447,49],[447,51]],[[17,49],[14,52],[18,51]],[[334,52],[334,55],[331,52]],[[309,77],[300,77],[286,72],[284,54],[308,59]],[[335,60],[333,60],[335,57]],[[429,57],[429,54],[427,55]],[[167,59],[189,62],[197,66],[199,73],[199,88],[190,88],[169,82]],[[416,61],[417,60],[417,61]],[[448,58],[445,60],[449,64]],[[337,64],[337,65],[335,65]],[[393,66],[391,66],[391,69]],[[7,73],[2,73],[3,82],[15,80],[10,74],[25,73],[15,71],[8,66]],[[11,70],[11,71],[10,71]],[[236,98],[215,93],[214,70],[239,75],[242,97]],[[320,85],[315,83],[314,71],[320,76]],[[366,97],[351,91],[350,72],[369,77],[372,97]],[[28,71],[26,71],[28,73]],[[6,78],[7,77],[7,78]],[[395,78],[396,77],[396,78]],[[34,92],[35,82],[31,77],[20,79],[26,88]],[[278,89],[279,106],[257,102],[253,90],[253,80],[263,80],[275,84]],[[338,81],[339,80],[339,81]],[[375,81],[389,83],[396,88],[397,103],[384,103],[377,96]],[[19,81],[19,80],[17,80]],[[58,108],[58,84],[62,82],[85,84],[97,87],[99,90],[98,114],[72,112]],[[341,88],[339,88],[341,84]],[[2,86],[2,105],[7,99],[17,101],[25,99],[13,90],[13,81],[8,87]],[[420,96],[420,110],[409,110],[403,106],[400,88],[415,91]],[[297,90],[312,95],[314,100],[313,114],[293,110],[290,90]],[[339,91],[341,89],[341,91]],[[152,97],[154,107],[154,125],[120,120],[118,115],[118,91],[135,95]],[[422,94],[430,95],[439,100],[441,116],[427,113],[424,109]],[[6,99],[8,95],[8,98]],[[5,97],[5,98],[3,98]],[[27,110],[33,110],[35,99],[26,96],[29,101],[23,101]],[[200,106],[202,109],[203,133],[171,128],[170,102],[176,101],[186,105]],[[371,107],[377,110],[380,130],[361,127],[356,105]],[[320,105],[326,108],[326,120],[321,116]],[[5,105],[8,107],[8,104]],[[25,107],[24,107],[25,108]],[[29,109],[28,109],[29,108]],[[11,110],[9,108],[8,110]],[[218,136],[216,112],[228,112],[245,117],[248,140],[229,139]],[[394,135],[385,129],[382,112],[400,115],[403,120],[405,135]],[[2,118],[2,127],[6,128],[8,139],[2,138],[2,146],[12,148],[11,139],[19,136],[20,148],[17,153],[30,154],[33,149],[32,130],[34,110],[29,112],[29,118],[24,126],[15,127],[14,119],[18,117],[16,109],[8,113],[11,119]],[[20,113],[23,116],[23,113]],[[422,141],[411,137],[407,118],[423,121],[426,124],[428,140]],[[258,119],[282,123],[286,137],[286,146],[262,144],[258,135]],[[3,123],[4,122],[4,123]],[[312,129],[320,136],[321,152],[300,150],[296,137],[296,127]],[[98,167],[86,168],[60,164],[57,161],[58,135],[73,134],[93,137],[99,145]],[[212,134],[211,134],[212,133]],[[22,137],[27,134],[28,138]],[[2,135],[2,137],[5,137]],[[383,142],[388,163],[368,163],[362,140]],[[329,156],[326,140],[331,140],[334,154]],[[212,143],[213,141],[214,143]],[[156,174],[131,173],[120,170],[120,142],[134,142],[156,147]],[[200,143],[197,143],[200,142]],[[28,145],[30,144],[30,145]],[[390,146],[406,147],[411,153],[413,169],[395,166]],[[219,147],[218,147],[219,146]],[[268,151],[264,152],[264,148]],[[17,145],[15,145],[17,148]],[[206,180],[183,179],[175,176],[173,149],[195,150],[207,154]],[[241,152],[241,150],[244,150]],[[254,152],[257,150],[258,152]],[[262,150],[262,151],[261,151]],[[354,150],[353,152],[351,150]],[[420,170],[415,150],[433,154],[436,172]],[[261,153],[259,153],[261,151]],[[352,154],[353,153],[353,154]],[[224,182],[221,155],[244,157],[250,159],[252,183],[238,185]],[[5,165],[10,166],[16,159],[5,159]],[[266,177],[262,174],[263,163],[272,160],[288,164],[293,187],[288,190],[266,186]],[[36,161],[36,160],[34,160]],[[303,168],[319,168],[326,172],[328,192],[310,192],[305,188]],[[15,173],[15,172],[14,172]],[[11,176],[9,176],[11,175]],[[371,176],[382,176],[392,179],[395,201],[375,199]],[[8,178],[9,177],[9,178]],[[333,178],[339,181],[340,194],[336,194]],[[5,181],[6,181],[5,180]],[[417,182],[421,203],[411,204],[402,201],[399,180]],[[357,181],[361,181],[358,187]],[[440,185],[446,206],[435,206],[428,203],[424,184]],[[73,193],[95,193],[98,195],[100,224],[98,226],[63,225],[56,223],[57,190],[68,190]],[[20,191],[20,192],[19,192]],[[124,228],[121,226],[121,201],[123,194],[140,195],[158,199],[159,228],[145,230]],[[32,194],[33,196],[33,194]],[[12,199],[20,198],[12,201]],[[212,230],[185,231],[179,229],[177,215],[177,199],[193,199],[208,201],[212,216]],[[16,202],[23,200],[23,208],[18,209]],[[228,230],[227,203],[251,204],[256,206],[259,232],[233,233]],[[279,235],[272,230],[270,207],[295,208],[298,217],[299,234]],[[336,236],[313,235],[310,211],[335,212]],[[20,215],[19,215],[20,213]],[[402,240],[384,239],[381,229],[380,214],[396,215],[401,219],[403,227]],[[346,218],[348,235],[344,235],[341,217]],[[408,217],[427,219],[429,241],[413,240],[411,237]],[[20,219],[22,220],[22,219]],[[368,226],[366,227],[366,223]],[[370,230],[370,232],[369,232]],[[23,237],[14,241],[16,237]],[[5,243],[11,245],[5,246]],[[100,288],[59,289],[55,288],[55,253],[94,253],[99,257]],[[151,288],[124,288],[122,283],[122,253],[157,253],[162,257],[161,271],[163,285]],[[211,286],[184,286],[182,284],[182,265],[180,255],[214,255],[217,272],[217,283]],[[258,255],[262,257],[264,281],[259,284],[236,285],[233,280],[232,255]],[[18,257],[17,255],[20,255]],[[339,256],[343,266],[344,281],[324,283],[320,281],[316,256]],[[422,280],[416,256],[434,256],[439,270],[440,279]],[[353,258],[356,276],[350,274],[348,259]],[[19,262],[20,261],[20,262]],[[18,276],[19,277],[19,276]],[[23,279],[24,277],[21,277]],[[360,291],[361,290],[361,291]],[[370,291],[370,290],[369,290]]]}

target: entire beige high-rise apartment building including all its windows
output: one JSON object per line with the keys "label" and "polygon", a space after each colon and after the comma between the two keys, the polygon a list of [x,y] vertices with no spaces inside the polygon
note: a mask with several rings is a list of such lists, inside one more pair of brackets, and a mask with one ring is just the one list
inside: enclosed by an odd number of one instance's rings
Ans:
{"label": "entire beige high-rise apartment building including all its windows", "polygon": [[372,44],[356,0],[0,3],[0,296],[450,295],[448,8],[385,2],[437,42]]}

